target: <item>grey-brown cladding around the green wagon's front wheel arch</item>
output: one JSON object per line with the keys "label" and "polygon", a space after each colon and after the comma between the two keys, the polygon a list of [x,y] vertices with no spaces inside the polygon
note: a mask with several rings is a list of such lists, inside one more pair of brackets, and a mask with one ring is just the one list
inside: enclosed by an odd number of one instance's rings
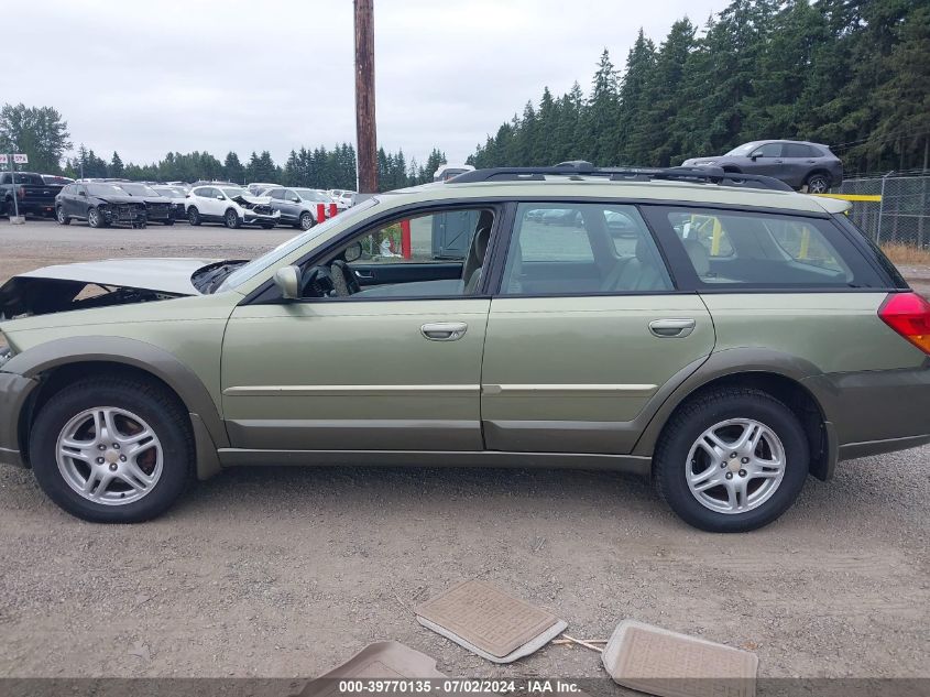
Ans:
{"label": "grey-brown cladding around the green wagon's front wheel arch", "polygon": [[68,379],[86,377],[89,372],[110,374],[118,370],[154,379],[178,397],[190,414],[200,478],[215,473],[218,469],[216,449],[229,445],[219,411],[207,388],[193,370],[154,345],[122,337],[69,337],[31,348],[15,356],[3,368],[24,378],[42,379],[43,382],[30,395],[20,414],[20,443],[28,443],[23,436],[28,434],[35,407],[41,404],[43,394],[54,394],[56,384],[67,384]]}

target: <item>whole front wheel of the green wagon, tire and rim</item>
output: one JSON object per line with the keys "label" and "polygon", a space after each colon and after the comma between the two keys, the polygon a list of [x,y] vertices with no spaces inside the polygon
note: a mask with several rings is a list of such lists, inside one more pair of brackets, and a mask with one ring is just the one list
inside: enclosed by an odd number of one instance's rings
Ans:
{"label": "whole front wheel of the green wagon, tire and rim", "polygon": [[95,523],[139,523],[165,512],[190,480],[187,415],[166,389],[113,378],[76,382],[40,411],[30,435],[39,484]]}

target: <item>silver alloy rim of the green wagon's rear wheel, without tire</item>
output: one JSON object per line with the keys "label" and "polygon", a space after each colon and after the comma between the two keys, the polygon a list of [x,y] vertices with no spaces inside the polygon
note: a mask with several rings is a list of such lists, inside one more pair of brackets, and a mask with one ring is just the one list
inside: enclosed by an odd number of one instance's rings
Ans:
{"label": "silver alloy rim of the green wagon's rear wheel, without tire", "polygon": [[730,418],[691,446],[685,477],[693,497],[718,513],[745,513],[768,501],[785,477],[785,447],[753,418]]}

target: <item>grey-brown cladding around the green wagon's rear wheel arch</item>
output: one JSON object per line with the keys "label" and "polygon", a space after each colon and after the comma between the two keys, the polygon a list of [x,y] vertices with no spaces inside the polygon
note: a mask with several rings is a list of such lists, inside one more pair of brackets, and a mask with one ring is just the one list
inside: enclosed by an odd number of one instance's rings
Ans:
{"label": "grey-brown cladding around the green wagon's rear wheel arch", "polygon": [[828,480],[838,458],[836,436],[821,401],[803,382],[818,374],[821,371],[809,361],[767,349],[727,349],[712,353],[659,407],[633,453],[652,455],[675,413],[700,394],[726,386],[755,388],[779,400],[797,415],[810,448],[810,473]]}

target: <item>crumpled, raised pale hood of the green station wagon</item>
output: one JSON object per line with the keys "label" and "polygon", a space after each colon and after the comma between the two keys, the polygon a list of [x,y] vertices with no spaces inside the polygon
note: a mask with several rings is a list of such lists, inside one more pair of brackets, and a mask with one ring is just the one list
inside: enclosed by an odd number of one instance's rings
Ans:
{"label": "crumpled, raised pale hood of the green station wagon", "polygon": [[0,319],[199,295],[194,272],[215,259],[108,259],[45,266],[0,286]]}

